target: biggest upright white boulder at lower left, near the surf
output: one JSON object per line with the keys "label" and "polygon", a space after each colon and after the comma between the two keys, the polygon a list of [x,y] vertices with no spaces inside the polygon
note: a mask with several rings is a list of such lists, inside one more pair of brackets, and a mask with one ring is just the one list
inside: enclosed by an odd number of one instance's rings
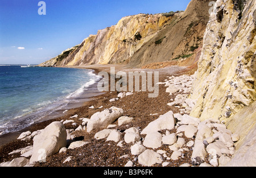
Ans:
{"label": "biggest upright white boulder at lower left, near the surf", "polygon": [[67,132],[61,122],[52,122],[33,139],[33,154],[30,163],[42,162],[46,157],[67,145]]}

